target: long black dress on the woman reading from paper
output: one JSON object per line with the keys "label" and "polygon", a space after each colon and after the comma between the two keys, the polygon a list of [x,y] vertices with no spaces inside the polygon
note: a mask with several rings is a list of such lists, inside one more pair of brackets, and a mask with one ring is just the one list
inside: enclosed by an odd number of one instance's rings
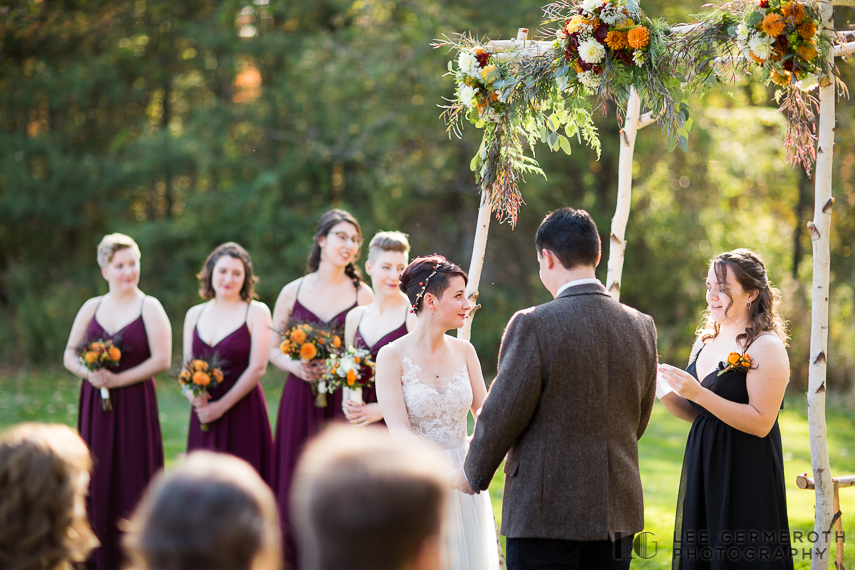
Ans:
{"label": "long black dress on the woman reading from paper", "polygon": [[[698,351],[700,354],[700,350]],[[686,372],[698,377],[698,357]],[[748,403],[746,372],[723,365],[701,385]],[[677,497],[673,570],[793,568],[778,420],[765,437],[730,427],[690,402],[692,423]]]}

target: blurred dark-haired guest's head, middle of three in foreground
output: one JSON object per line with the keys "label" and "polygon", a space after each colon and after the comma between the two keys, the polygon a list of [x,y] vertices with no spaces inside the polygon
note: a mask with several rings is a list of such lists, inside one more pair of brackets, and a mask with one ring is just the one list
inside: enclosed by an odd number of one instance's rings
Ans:
{"label": "blurred dark-haired guest's head, middle of three in foreground", "polygon": [[196,451],[154,479],[124,546],[138,570],[277,570],[276,499],[245,461]]}

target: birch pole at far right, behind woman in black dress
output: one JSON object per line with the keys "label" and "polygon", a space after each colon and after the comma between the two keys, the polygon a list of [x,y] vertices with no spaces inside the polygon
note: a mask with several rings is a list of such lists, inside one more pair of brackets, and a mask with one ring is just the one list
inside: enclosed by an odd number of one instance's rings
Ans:
{"label": "birch pole at far right, behind woman in black dress", "polygon": [[[822,27],[834,29],[832,0],[822,0]],[[828,33],[824,31],[823,33]],[[834,52],[828,54],[828,68],[834,68]],[[813,245],[813,292],[811,296],[810,368],[808,372],[808,425],[811,468],[815,485],[816,510],[813,530],[811,570],[827,570],[830,560],[829,532],[834,517],[834,483],[828,461],[825,428],[826,362],[828,351],[828,294],[831,254],[831,167],[834,156],[835,81],[824,77],[819,88],[819,140],[816,149],[816,186],[813,221],[808,222]]]}

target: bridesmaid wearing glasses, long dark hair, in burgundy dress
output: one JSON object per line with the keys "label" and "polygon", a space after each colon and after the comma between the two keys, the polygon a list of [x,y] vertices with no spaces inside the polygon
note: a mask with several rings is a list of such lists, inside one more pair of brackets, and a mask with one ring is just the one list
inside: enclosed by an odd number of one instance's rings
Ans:
{"label": "bridesmaid wearing glasses, long dark hair, in burgundy dress", "polygon": [[[282,288],[273,309],[273,322],[280,330],[289,322],[329,325],[343,335],[347,312],[374,299],[371,288],[361,281],[356,267],[362,230],[349,213],[330,210],[321,216],[314,241],[306,262],[308,274]],[[291,570],[299,567],[288,511],[288,494],[297,459],[311,437],[330,421],[344,421],[344,414],[340,392],[328,397],[327,407],[315,407],[310,383],[317,382],[323,364],[291,360],[279,350],[279,341],[279,335],[271,336],[270,362],[290,374],[282,390],[276,418],[273,491],[282,519],[285,570]]]}

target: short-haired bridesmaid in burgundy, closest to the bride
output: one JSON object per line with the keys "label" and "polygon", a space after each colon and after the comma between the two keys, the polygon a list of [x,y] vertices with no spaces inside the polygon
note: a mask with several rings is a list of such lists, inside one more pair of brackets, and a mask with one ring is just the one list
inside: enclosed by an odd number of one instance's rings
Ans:
{"label": "short-haired bridesmaid in burgundy, closest to the bride", "polygon": [[[347,314],[344,341],[370,351],[374,362],[381,348],[407,334],[416,322],[415,315],[410,312],[410,302],[399,287],[409,252],[410,242],[401,232],[380,232],[368,244],[365,272],[371,277],[374,302]],[[355,426],[375,422],[378,426],[386,426],[373,386],[362,391],[362,402],[343,396],[342,411]]]}

